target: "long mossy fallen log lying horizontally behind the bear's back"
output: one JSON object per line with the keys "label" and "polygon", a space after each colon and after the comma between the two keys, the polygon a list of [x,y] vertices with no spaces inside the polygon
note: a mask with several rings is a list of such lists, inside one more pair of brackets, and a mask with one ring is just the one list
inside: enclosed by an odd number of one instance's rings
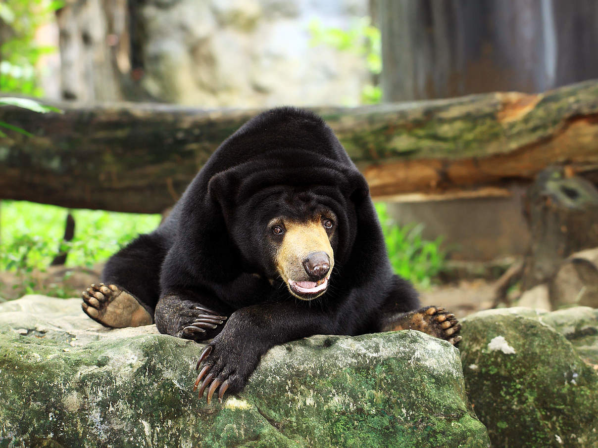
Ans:
{"label": "long mossy fallen log lying horizontally behind the bear's back", "polygon": [[[256,110],[53,103],[63,114],[0,108],[0,198],[157,213]],[[504,192],[548,165],[598,167],[598,81],[544,94],[492,93],[319,108],[375,198]],[[484,193],[481,193],[484,194]]]}

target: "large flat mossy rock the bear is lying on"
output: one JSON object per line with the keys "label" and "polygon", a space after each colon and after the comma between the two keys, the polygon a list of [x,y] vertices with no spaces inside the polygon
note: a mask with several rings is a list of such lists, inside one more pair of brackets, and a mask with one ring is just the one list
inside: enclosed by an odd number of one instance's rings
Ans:
{"label": "large flat mossy rock the bear is lying on", "polygon": [[203,346],[105,329],[78,299],[0,304],[0,447],[487,447],[458,351],[419,332],[276,346],[242,394],[191,392]]}

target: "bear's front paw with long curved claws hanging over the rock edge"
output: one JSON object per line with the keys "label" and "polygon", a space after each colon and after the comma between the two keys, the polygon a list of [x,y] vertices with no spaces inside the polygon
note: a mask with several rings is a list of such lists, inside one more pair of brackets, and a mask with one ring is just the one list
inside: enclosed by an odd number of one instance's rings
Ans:
{"label": "bear's front paw with long curved claws hanging over the rock edge", "polygon": [[228,347],[218,339],[221,337],[216,337],[212,343],[208,344],[196,365],[196,370],[199,370],[202,364],[203,367],[197,375],[193,391],[196,391],[201,382],[199,398],[202,398],[203,392],[209,386],[206,397],[208,404],[212,401],[212,395],[216,389],[218,389],[220,403],[222,403],[222,397],[227,390],[230,389],[233,394],[240,392],[260,361],[259,357],[253,359],[256,357],[249,353],[241,355],[242,351],[238,347]]}

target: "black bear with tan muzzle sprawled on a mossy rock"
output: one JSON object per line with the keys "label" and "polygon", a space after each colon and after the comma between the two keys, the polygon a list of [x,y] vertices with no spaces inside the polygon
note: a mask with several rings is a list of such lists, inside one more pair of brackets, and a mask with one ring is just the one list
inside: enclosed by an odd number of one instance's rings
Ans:
{"label": "black bear with tan muzzle sprawled on a mossy rock", "polygon": [[415,329],[459,342],[460,324],[390,266],[368,184],[324,120],[260,113],[228,137],[155,231],[106,263],[83,311],[108,327],[155,322],[208,341],[193,390],[243,389],[262,355],[316,334]]}

